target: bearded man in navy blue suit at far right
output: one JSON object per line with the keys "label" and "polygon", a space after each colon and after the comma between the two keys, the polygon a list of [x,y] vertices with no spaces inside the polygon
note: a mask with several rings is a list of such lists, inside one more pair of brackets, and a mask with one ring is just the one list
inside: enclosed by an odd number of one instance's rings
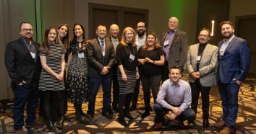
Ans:
{"label": "bearded man in navy blue suit at far right", "polygon": [[218,43],[218,90],[221,94],[223,117],[216,123],[223,128],[220,133],[231,133],[238,112],[238,92],[250,64],[249,46],[246,40],[234,35],[230,21],[221,22],[224,39]]}

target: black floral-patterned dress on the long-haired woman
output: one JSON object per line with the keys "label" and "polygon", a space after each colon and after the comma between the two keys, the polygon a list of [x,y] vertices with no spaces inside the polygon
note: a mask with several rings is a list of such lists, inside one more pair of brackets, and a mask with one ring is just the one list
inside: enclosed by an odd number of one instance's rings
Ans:
{"label": "black floral-patterned dress on the long-haired woman", "polygon": [[87,102],[88,86],[88,60],[87,43],[82,42],[83,49],[78,50],[78,42],[71,41],[67,54],[72,53],[72,59],[67,71],[67,92],[72,103]]}

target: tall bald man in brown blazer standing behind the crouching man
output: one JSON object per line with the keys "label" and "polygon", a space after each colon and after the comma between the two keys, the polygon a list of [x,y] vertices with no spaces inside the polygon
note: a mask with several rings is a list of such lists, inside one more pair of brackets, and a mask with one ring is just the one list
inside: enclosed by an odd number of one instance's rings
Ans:
{"label": "tall bald man in brown blazer standing behind the crouching man", "polygon": [[178,30],[179,20],[176,17],[168,19],[167,32],[161,37],[161,45],[165,53],[165,63],[162,70],[162,82],[168,79],[168,73],[172,66],[179,66],[183,71],[187,60],[187,33]]}

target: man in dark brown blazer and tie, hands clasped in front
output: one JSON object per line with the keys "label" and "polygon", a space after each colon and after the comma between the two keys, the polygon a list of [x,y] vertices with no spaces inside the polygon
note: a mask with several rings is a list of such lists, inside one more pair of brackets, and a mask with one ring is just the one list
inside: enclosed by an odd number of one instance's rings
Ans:
{"label": "man in dark brown blazer and tie, hands clasped in front", "polygon": [[98,37],[90,40],[88,44],[88,76],[90,92],[88,94],[88,117],[94,116],[95,99],[101,84],[103,87],[102,115],[113,117],[111,110],[111,67],[115,60],[114,45],[106,37],[106,27],[98,25]]}

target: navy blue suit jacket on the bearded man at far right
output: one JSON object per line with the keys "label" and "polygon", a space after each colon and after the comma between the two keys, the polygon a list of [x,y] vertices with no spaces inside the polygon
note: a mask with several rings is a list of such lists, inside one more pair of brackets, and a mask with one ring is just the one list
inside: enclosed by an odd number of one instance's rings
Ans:
{"label": "navy blue suit jacket on the bearded man at far right", "polygon": [[232,79],[244,81],[251,61],[247,41],[235,36],[223,56],[219,52],[222,44],[223,40],[218,43],[217,81],[221,81],[224,84],[236,83]]}

